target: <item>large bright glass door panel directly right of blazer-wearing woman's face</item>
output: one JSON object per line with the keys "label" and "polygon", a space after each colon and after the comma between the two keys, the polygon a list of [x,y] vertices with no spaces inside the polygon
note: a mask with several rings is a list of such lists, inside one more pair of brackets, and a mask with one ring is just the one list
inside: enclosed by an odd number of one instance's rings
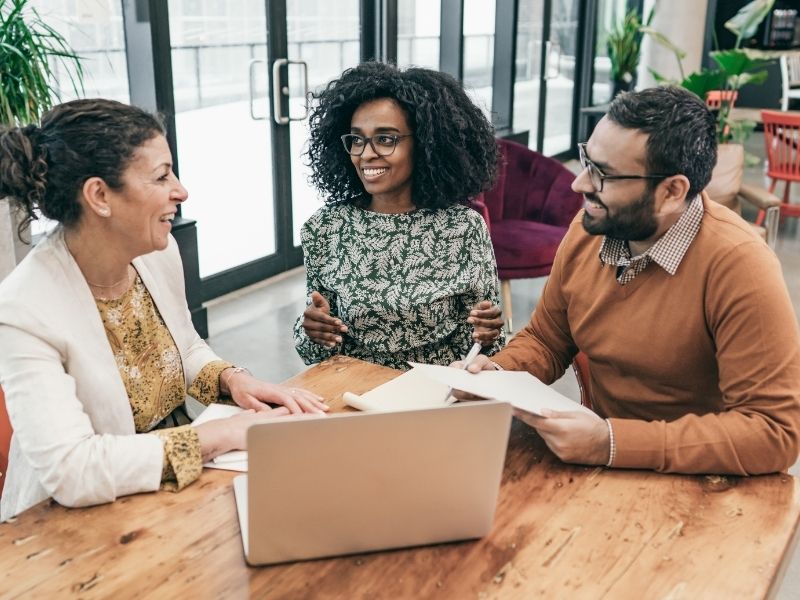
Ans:
{"label": "large bright glass door panel directly right of blazer-wearing woman's face", "polygon": [[275,252],[265,3],[170,0],[169,21],[182,211],[206,277]]}

